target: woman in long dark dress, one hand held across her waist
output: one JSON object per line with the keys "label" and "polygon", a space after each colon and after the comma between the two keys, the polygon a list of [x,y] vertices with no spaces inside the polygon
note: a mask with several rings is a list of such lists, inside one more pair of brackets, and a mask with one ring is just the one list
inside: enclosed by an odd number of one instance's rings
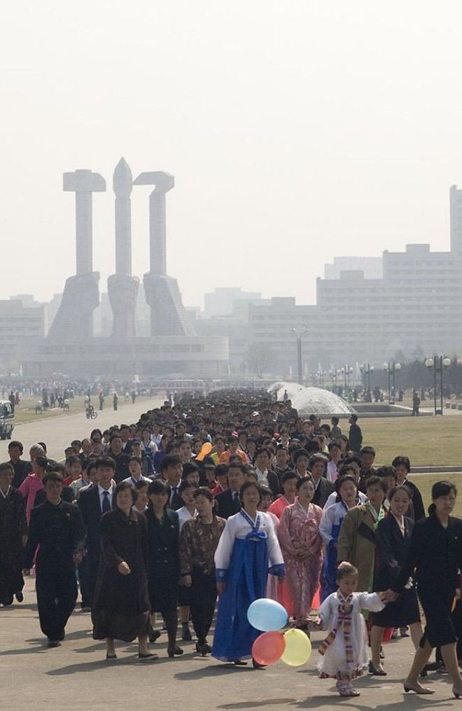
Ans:
{"label": "woman in long dark dress, one hand held across her waist", "polygon": [[106,640],[106,658],[116,659],[114,639],[138,637],[139,660],[154,661],[147,633],[149,596],[146,577],[147,525],[132,507],[136,490],[122,481],[114,491],[115,508],[100,519],[100,566],[92,608],[93,639]]}

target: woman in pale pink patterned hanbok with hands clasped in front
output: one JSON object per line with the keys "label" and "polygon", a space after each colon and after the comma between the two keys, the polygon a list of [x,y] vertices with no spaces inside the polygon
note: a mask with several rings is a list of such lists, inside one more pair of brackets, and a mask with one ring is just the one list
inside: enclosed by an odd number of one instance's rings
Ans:
{"label": "woman in pale pink patterned hanbok with hands clasped in front", "polygon": [[286,581],[294,600],[295,623],[303,631],[308,631],[308,615],[319,584],[322,560],[319,523],[323,512],[311,503],[314,486],[311,476],[299,479],[298,498],[284,508],[277,532],[286,566]]}

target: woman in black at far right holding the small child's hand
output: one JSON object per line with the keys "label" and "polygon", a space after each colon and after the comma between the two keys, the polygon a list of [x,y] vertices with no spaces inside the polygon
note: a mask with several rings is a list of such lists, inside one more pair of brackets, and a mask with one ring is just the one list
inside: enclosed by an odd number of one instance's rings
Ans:
{"label": "woman in black at far right holding the small child's hand", "polygon": [[434,647],[441,646],[441,656],[453,683],[453,694],[462,696],[462,678],[456,656],[457,635],[451,620],[451,608],[459,592],[462,568],[462,520],[451,513],[456,505],[456,486],[437,481],[431,489],[429,517],[414,525],[406,561],[397,580],[387,591],[394,602],[410,576],[417,579],[417,591],[424,609],[426,626],[414,662],[404,682],[404,691],[431,694],[419,683],[419,673]]}

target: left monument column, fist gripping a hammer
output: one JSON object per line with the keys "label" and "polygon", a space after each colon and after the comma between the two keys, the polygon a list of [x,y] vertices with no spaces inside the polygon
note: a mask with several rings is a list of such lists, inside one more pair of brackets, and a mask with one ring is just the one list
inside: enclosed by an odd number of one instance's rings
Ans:
{"label": "left monument column, fist gripping a hammer", "polygon": [[76,274],[66,279],[63,298],[47,338],[85,342],[93,335],[93,311],[100,303],[100,273],[93,272],[92,193],[106,190],[100,173],[77,170],[63,173],[63,190],[75,193]]}

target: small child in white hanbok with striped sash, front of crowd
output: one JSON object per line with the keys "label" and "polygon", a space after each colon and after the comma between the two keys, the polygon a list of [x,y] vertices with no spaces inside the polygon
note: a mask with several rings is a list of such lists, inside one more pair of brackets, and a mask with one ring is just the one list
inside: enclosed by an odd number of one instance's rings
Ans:
{"label": "small child in white hanbok with striped sash, front of crowd", "polygon": [[316,625],[329,631],[319,648],[318,670],[321,679],[337,679],[341,696],[359,696],[351,680],[369,665],[367,630],[361,610],[379,612],[385,607],[380,593],[355,592],[358,570],[350,563],[337,569],[338,591],[326,597]]}

